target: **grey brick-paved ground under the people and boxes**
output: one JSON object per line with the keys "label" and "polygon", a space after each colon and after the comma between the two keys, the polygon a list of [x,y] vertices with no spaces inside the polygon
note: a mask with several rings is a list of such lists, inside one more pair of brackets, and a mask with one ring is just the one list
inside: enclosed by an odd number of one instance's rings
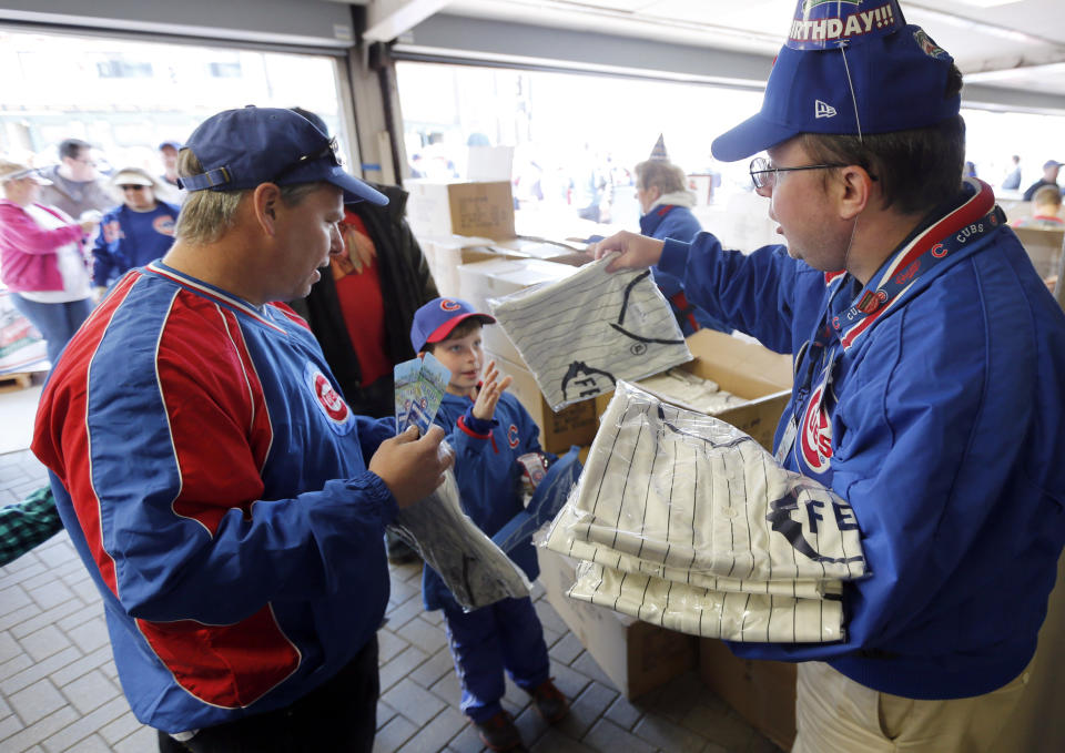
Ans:
{"label": "grey brick-paved ground under the people and boxes", "polygon": [[[0,505],[44,482],[28,451],[0,455]],[[483,751],[458,711],[458,681],[439,624],[422,610],[420,569],[392,568],[388,622],[379,633],[382,698],[375,753]],[[537,586],[551,671],[569,716],[545,725],[508,684],[504,701],[534,753],[775,753],[694,672],[636,703],[613,689]],[[151,753],[119,686],[100,598],[65,533],[0,568],[0,751]]]}

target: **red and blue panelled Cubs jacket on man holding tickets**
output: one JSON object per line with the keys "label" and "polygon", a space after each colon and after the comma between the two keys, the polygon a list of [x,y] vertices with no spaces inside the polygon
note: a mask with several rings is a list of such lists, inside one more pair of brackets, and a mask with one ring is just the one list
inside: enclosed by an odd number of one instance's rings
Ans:
{"label": "red and blue panelled Cubs jacket on man holding tickets", "polygon": [[158,262],[118,282],[51,374],[33,452],[141,722],[286,706],[374,635],[396,502],[365,458],[394,426],[352,414],[291,309]]}

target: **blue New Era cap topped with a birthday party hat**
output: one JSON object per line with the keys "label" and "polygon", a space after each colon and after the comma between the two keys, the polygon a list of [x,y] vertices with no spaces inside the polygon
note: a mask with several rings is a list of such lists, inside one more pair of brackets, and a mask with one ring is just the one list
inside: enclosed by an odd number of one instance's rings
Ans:
{"label": "blue New Era cap topped with a birthday party hat", "polygon": [[711,144],[734,162],[800,133],[859,135],[935,125],[957,115],[944,95],[953,58],[895,0],[799,0],[761,111]]}

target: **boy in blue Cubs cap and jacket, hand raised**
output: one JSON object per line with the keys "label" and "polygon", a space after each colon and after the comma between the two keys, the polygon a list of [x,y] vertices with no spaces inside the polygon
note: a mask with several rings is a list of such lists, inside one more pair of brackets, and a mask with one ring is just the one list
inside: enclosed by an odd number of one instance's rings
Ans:
{"label": "boy in blue Cubs cap and jacket, hand raised", "polygon": [[[410,327],[410,345],[450,369],[436,423],[450,433],[463,511],[489,537],[524,509],[524,461],[535,458],[544,467],[548,458],[555,459],[541,450],[532,417],[506,391],[510,377],[501,377],[494,360],[485,365],[480,330],[494,323],[465,301],[436,298],[417,311]],[[531,541],[507,554],[529,580],[539,574]],[[447,644],[463,689],[460,708],[485,745],[509,751],[521,744],[514,718],[501,704],[505,673],[531,696],[545,721],[566,715],[569,702],[551,682],[544,630],[528,597],[464,612],[426,564],[422,600],[427,610],[444,610]]]}

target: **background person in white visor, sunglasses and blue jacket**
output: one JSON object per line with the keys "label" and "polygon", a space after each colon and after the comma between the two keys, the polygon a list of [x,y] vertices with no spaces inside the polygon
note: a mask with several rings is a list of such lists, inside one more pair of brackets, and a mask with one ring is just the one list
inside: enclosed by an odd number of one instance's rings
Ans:
{"label": "background person in white visor, sunglasses and blue jacket", "polygon": [[111,177],[122,204],[103,215],[92,247],[92,289],[99,301],[133,267],[161,258],[174,243],[179,207],[155,194],[159,181],[146,170],[123,167]]}

